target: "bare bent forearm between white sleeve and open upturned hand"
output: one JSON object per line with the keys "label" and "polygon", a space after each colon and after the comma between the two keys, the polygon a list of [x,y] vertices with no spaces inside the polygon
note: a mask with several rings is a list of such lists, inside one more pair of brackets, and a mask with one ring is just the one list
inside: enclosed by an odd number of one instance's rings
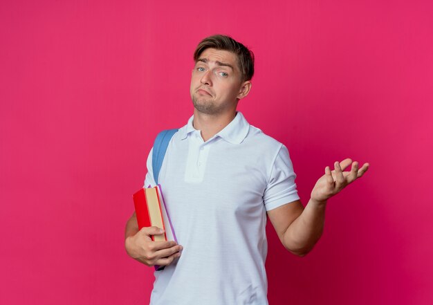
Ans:
{"label": "bare bent forearm between white sleeve and open upturned hand", "polygon": [[304,256],[320,239],[324,227],[326,201],[318,203],[310,199],[304,211],[284,232],[283,244],[295,255]]}

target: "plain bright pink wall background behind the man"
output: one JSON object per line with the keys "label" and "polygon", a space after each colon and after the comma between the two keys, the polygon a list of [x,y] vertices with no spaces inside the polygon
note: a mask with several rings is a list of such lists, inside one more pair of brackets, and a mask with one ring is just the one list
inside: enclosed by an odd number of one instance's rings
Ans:
{"label": "plain bright pink wall background behind the man", "polygon": [[[431,1],[2,1],[0,304],[147,304],[124,228],[156,133],[192,114],[192,53],[252,48],[240,110],[288,147],[306,203],[323,168],[371,170],[304,258],[272,227],[270,304],[432,304]],[[194,284],[194,283],[192,283]]]}

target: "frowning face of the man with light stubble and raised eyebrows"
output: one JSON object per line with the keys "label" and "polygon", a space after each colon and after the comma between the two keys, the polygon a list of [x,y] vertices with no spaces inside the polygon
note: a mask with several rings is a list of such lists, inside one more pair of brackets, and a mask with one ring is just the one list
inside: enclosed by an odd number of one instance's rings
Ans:
{"label": "frowning face of the man with light stubble and raised eyebrows", "polygon": [[191,98],[201,113],[218,115],[236,111],[238,99],[246,96],[249,88],[249,81],[241,82],[237,56],[227,50],[205,49],[192,71]]}

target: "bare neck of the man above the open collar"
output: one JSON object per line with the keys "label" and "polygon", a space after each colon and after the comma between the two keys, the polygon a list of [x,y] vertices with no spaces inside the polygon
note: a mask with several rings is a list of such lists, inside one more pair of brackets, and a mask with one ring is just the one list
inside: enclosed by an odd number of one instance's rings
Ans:
{"label": "bare neck of the man above the open collar", "polygon": [[224,115],[209,115],[194,109],[194,120],[192,124],[195,129],[201,131],[201,138],[206,142],[230,124],[235,116],[236,109]]}

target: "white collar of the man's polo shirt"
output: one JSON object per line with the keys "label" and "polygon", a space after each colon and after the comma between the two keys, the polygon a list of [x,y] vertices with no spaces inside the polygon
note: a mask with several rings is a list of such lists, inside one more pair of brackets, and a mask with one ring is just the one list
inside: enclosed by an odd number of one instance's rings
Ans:
{"label": "white collar of the man's polo shirt", "polygon": [[[189,133],[193,131],[198,131],[192,126],[192,121],[194,120],[194,115],[188,120],[187,124],[181,128],[181,139],[187,138]],[[227,142],[232,144],[241,144],[241,142],[246,138],[248,131],[250,130],[250,124],[247,122],[246,118],[241,112],[237,111],[236,116],[223,130],[216,133],[216,136],[223,138]]]}

